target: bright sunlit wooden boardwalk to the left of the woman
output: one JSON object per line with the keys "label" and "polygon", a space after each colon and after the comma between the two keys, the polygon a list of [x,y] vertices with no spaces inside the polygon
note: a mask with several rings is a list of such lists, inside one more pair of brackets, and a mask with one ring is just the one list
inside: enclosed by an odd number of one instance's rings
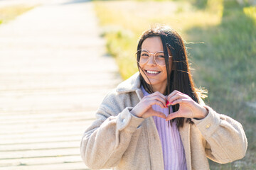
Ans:
{"label": "bright sunlit wooden boardwalk to the left of the woman", "polygon": [[0,25],[0,170],[87,169],[82,133],[121,80],[92,2],[58,1]]}

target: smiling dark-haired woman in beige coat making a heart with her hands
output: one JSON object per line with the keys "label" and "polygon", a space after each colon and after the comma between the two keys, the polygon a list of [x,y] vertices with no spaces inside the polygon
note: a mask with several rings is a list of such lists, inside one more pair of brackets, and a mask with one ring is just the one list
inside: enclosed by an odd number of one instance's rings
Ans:
{"label": "smiling dark-haired woman in beige coat making a heart with her hands", "polygon": [[242,125],[206,106],[194,87],[181,36],[146,30],[137,47],[139,72],[102,101],[85,131],[81,155],[92,169],[209,169],[242,159]]}

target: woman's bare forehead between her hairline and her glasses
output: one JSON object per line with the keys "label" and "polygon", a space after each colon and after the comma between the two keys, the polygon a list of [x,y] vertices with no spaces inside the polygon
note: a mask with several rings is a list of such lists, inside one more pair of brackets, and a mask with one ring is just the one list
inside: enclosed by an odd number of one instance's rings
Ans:
{"label": "woman's bare forehead between her hairline and her glasses", "polygon": [[142,50],[147,50],[149,52],[164,51],[161,38],[159,36],[146,38],[146,40],[142,42]]}

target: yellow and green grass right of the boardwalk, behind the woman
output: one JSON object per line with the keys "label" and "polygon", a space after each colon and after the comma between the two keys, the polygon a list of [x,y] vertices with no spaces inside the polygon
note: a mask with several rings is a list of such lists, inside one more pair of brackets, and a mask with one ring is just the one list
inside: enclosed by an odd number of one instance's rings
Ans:
{"label": "yellow and green grass right of the boardwalk, behind the woman", "polygon": [[255,6],[228,0],[95,1],[95,9],[123,79],[137,72],[134,53],[144,30],[155,23],[178,30],[186,40],[193,79],[208,89],[206,103],[242,123],[247,135],[244,159],[210,162],[210,169],[256,169]]}

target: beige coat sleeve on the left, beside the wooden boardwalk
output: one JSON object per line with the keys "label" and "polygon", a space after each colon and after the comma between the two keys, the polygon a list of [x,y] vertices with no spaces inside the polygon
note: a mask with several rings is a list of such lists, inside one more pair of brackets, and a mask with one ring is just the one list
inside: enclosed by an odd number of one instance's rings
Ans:
{"label": "beige coat sleeve on the left, beside the wooden boardwalk", "polygon": [[92,169],[116,166],[126,151],[132,134],[144,118],[132,115],[132,108],[121,106],[117,94],[109,94],[97,110],[95,122],[85,131],[80,143],[81,157]]}

